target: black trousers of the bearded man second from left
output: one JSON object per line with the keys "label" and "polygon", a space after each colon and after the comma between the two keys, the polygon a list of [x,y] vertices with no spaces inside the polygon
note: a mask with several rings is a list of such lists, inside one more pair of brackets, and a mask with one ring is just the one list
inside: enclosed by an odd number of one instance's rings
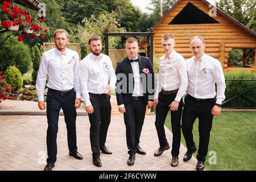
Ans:
{"label": "black trousers of the bearded man second from left", "polygon": [[94,112],[89,114],[90,146],[93,156],[100,156],[100,147],[105,146],[111,118],[110,96],[89,93]]}

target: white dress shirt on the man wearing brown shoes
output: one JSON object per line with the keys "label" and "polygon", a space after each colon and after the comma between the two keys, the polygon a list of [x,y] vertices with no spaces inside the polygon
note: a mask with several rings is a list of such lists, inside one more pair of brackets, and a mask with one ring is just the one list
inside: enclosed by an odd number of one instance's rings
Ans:
{"label": "white dress shirt on the man wearing brown shoes", "polygon": [[161,90],[171,91],[179,89],[175,101],[180,102],[188,86],[187,68],[183,56],[175,50],[166,59],[165,55],[159,60],[158,85],[156,86],[155,98],[158,98]]}

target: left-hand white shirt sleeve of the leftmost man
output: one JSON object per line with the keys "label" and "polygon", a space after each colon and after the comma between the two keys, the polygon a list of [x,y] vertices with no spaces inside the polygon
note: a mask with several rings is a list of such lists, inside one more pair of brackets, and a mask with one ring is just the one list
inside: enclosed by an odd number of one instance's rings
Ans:
{"label": "left-hand white shirt sleeve of the leftmost man", "polygon": [[36,93],[38,94],[38,102],[44,101],[44,89],[46,87],[46,76],[48,73],[48,64],[46,55],[41,57],[41,63],[39,66],[38,77],[36,78]]}

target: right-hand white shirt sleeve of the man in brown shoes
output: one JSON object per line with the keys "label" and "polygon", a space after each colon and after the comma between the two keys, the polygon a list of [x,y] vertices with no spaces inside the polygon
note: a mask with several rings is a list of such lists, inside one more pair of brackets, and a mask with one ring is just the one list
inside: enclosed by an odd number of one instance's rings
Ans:
{"label": "right-hand white shirt sleeve of the man in brown shoes", "polygon": [[180,77],[180,87],[177,95],[175,97],[175,101],[180,102],[181,98],[186,93],[188,87],[188,75],[187,75],[187,68],[184,59],[179,60],[179,64],[177,65],[179,77]]}

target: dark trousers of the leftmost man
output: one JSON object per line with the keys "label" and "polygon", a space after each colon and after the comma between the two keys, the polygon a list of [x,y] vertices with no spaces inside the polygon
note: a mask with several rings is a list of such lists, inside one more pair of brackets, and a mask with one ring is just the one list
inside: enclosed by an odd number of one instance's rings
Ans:
{"label": "dark trousers of the leftmost man", "polygon": [[74,107],[76,93],[71,90],[64,96],[59,93],[48,91],[47,93],[47,163],[55,163],[57,156],[57,132],[60,109],[63,109],[64,119],[68,133],[69,152],[76,152],[76,109]]}

